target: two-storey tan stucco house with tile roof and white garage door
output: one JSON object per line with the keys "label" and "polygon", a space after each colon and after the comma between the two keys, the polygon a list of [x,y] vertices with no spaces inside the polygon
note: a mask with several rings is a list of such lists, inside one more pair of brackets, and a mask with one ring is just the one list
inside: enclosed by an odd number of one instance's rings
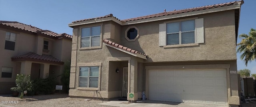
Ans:
{"label": "two-storey tan stucco house with tile roof and white garage door", "polygon": [[238,107],[242,4],[72,22],[69,95],[136,101],[145,91],[148,100]]}

